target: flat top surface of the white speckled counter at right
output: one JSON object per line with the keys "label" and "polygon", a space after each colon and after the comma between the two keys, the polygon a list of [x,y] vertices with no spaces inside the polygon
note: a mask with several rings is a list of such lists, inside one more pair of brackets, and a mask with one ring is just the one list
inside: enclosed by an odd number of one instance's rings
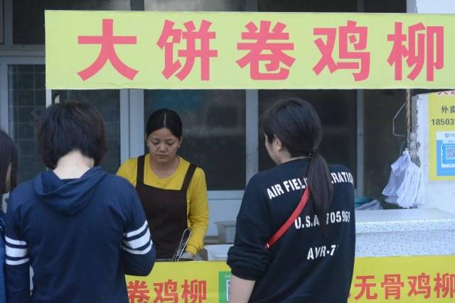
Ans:
{"label": "flat top surface of the white speckled counter at right", "polygon": [[355,211],[356,233],[455,231],[455,215],[439,209]]}

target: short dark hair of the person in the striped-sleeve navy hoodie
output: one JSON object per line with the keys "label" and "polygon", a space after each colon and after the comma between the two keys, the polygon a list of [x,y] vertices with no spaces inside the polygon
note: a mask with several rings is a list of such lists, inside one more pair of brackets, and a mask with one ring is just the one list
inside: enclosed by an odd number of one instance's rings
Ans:
{"label": "short dark hair of the person in the striped-sleeve navy hoodie", "polygon": [[41,158],[52,170],[60,158],[73,150],[92,158],[96,166],[107,152],[105,121],[89,104],[53,104],[44,111],[38,141]]}

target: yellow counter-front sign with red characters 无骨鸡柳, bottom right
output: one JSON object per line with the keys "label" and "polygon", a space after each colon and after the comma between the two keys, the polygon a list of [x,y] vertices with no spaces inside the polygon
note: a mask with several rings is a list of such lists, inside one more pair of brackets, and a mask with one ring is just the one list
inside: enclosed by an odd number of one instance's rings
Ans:
{"label": "yellow counter-front sign with red characters \u65e0\u9aa8\u9e21\u67f3, bottom right", "polygon": [[455,255],[355,258],[349,303],[454,302]]}

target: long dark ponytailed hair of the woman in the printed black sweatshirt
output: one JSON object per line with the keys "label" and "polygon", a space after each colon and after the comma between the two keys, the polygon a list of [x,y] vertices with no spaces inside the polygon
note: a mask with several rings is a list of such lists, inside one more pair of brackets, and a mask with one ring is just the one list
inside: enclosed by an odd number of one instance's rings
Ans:
{"label": "long dark ponytailed hair of the woman in the printed black sweatshirt", "polygon": [[314,212],[319,217],[321,228],[326,231],[326,213],[333,197],[333,184],[327,162],[318,151],[323,136],[318,114],[307,101],[285,99],[265,111],[260,124],[269,143],[277,137],[291,157],[311,157],[303,178],[307,178]]}

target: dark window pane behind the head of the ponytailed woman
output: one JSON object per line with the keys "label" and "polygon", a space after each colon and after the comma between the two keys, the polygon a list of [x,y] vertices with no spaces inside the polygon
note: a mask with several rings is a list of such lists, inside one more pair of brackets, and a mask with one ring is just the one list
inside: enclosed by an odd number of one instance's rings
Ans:
{"label": "dark window pane behind the head of the ponytailed woman", "polygon": [[[298,97],[309,101],[321,118],[323,139],[319,151],[328,163],[343,164],[356,177],[357,93],[353,89],[259,90],[259,115],[281,99]],[[259,131],[259,170],[274,166]]]}

